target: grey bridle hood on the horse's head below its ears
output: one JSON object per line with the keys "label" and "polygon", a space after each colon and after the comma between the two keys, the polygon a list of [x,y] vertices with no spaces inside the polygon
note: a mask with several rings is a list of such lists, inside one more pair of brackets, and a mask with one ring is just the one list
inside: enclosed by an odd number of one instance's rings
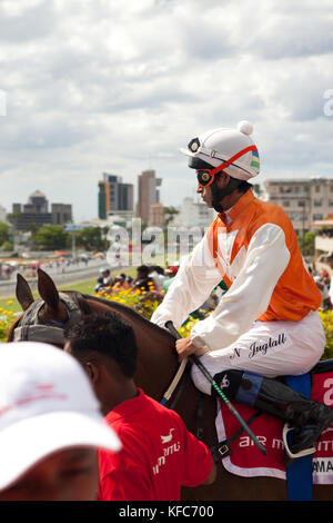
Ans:
{"label": "grey bridle hood on the horse's head below its ears", "polygon": [[59,297],[63,303],[68,313],[68,319],[60,322],[41,322],[39,313],[44,306],[43,299],[37,299],[27,309],[26,314],[20,318],[13,330],[13,342],[44,342],[56,345],[63,345],[63,329],[67,326],[78,323],[83,314],[71,296],[59,293]]}

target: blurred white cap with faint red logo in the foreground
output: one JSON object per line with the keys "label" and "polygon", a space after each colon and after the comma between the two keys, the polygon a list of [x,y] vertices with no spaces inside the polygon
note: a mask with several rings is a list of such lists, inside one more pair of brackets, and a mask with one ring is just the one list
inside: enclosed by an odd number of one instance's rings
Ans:
{"label": "blurred white cap with faint red logo in the foreground", "polygon": [[3,344],[0,491],[48,455],[77,446],[112,452],[121,447],[81,365],[48,344]]}

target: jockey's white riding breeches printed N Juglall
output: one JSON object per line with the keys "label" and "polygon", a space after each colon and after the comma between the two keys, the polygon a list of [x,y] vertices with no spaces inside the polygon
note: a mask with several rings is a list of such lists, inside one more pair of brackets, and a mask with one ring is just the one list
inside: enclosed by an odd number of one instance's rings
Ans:
{"label": "jockey's white riding breeches printed N Juglall", "polygon": [[[297,376],[316,365],[325,344],[320,315],[311,312],[300,322],[254,322],[235,343],[200,359],[212,376],[232,368],[265,377]],[[211,394],[211,384],[196,365],[191,373],[194,385]]]}

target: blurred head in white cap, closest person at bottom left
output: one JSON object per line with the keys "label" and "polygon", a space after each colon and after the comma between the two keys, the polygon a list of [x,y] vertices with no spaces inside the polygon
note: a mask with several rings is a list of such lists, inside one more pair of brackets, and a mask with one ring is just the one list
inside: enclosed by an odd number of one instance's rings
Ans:
{"label": "blurred head in white cap, closest person at bottom left", "polygon": [[95,500],[97,448],[121,444],[81,366],[43,343],[1,352],[0,501]]}

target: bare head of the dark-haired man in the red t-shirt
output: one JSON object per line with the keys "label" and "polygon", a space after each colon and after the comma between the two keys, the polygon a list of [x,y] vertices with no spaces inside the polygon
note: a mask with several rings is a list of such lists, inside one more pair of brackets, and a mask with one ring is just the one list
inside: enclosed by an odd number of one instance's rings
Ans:
{"label": "bare head of the dark-haired man in the red t-shirt", "polygon": [[64,332],[64,351],[84,367],[107,414],[134,388],[138,345],[132,327],[114,313],[85,316]]}

